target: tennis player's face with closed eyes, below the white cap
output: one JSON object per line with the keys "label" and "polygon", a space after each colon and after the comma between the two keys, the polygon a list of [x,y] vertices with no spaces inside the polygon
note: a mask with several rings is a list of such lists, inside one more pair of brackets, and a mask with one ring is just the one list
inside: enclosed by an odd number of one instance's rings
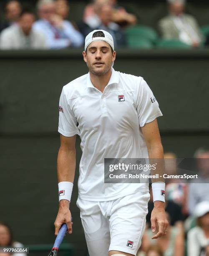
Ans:
{"label": "tennis player's face with closed eyes, below the white cap", "polygon": [[111,51],[111,46],[105,41],[94,41],[83,51],[83,59],[88,64],[88,69],[96,75],[106,74],[112,62],[116,59],[116,51]]}

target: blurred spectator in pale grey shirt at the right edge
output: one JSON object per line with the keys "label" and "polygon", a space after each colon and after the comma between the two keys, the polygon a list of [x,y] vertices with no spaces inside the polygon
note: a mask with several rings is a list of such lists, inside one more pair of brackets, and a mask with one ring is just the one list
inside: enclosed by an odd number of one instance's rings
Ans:
{"label": "blurred spectator in pale grey shirt at the right edge", "polygon": [[194,209],[199,202],[209,202],[209,150],[199,148],[194,157],[197,158],[199,169],[198,183],[190,183],[188,188],[188,210],[194,215]]}

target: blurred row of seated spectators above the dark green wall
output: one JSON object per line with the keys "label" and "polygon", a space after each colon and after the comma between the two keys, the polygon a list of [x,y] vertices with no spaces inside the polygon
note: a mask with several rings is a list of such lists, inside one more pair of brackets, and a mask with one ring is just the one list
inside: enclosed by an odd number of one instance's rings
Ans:
{"label": "blurred row of seated spectators above the dark green wall", "polygon": [[[209,44],[196,18],[185,13],[185,0],[165,0],[168,15],[154,28],[141,25],[117,0],[93,0],[83,10],[83,20],[72,22],[68,0],[38,0],[33,10],[18,0],[8,0],[0,19],[0,49],[62,49],[82,47],[94,29],[111,33],[117,47],[197,48]],[[207,25],[207,24],[205,24]],[[208,31],[208,33],[207,33]]]}

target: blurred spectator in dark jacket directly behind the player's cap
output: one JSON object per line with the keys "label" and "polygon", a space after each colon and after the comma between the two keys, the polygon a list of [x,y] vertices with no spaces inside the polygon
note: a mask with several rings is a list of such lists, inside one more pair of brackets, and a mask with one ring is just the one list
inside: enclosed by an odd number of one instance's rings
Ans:
{"label": "blurred spectator in dark jacket directly behind the player's cap", "polygon": [[111,21],[112,18],[112,7],[108,0],[99,0],[95,4],[95,14],[86,18],[86,22],[78,24],[83,36],[86,37],[88,33],[95,29],[102,29],[108,31],[114,41],[115,46],[126,46],[126,36],[121,31],[118,24]]}

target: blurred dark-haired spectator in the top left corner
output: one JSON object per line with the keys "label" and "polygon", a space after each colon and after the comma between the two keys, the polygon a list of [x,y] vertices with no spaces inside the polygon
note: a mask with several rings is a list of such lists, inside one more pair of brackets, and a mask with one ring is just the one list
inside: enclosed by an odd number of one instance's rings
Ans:
{"label": "blurred dark-haired spectator in the top left corner", "polygon": [[0,26],[0,31],[4,28],[8,28],[11,25],[18,23],[22,7],[17,0],[11,0],[5,7],[5,22]]}

